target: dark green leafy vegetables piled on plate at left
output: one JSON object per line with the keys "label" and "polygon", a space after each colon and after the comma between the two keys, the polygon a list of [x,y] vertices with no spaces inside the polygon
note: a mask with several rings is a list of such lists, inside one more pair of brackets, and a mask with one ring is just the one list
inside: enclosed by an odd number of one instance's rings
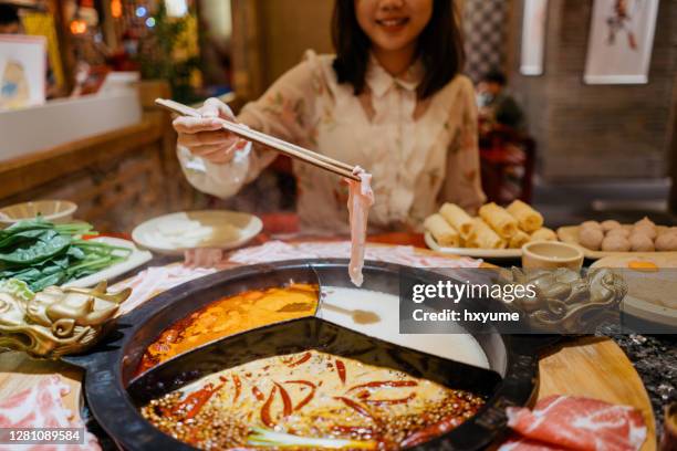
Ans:
{"label": "dark green leafy vegetables piled on plate at left", "polygon": [[0,281],[13,279],[39,292],[127,260],[132,250],[83,240],[96,234],[84,222],[54,224],[42,218],[0,230]]}

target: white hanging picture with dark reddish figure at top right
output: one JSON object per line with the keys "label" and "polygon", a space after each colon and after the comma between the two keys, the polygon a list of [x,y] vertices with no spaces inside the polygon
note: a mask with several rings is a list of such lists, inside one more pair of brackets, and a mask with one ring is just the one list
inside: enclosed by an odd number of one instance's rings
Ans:
{"label": "white hanging picture with dark reddish figure at top right", "polygon": [[647,83],[657,14],[658,0],[594,0],[585,83]]}

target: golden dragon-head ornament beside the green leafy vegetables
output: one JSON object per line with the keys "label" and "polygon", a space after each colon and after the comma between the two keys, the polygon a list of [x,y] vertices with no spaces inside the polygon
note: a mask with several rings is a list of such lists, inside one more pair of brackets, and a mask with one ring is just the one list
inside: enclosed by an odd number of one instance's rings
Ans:
{"label": "golden dragon-head ornament beside the green leafy vegetables", "polygon": [[108,293],[106,282],[94,289],[49,286],[31,298],[0,293],[0,349],[40,358],[83,352],[131,293]]}

